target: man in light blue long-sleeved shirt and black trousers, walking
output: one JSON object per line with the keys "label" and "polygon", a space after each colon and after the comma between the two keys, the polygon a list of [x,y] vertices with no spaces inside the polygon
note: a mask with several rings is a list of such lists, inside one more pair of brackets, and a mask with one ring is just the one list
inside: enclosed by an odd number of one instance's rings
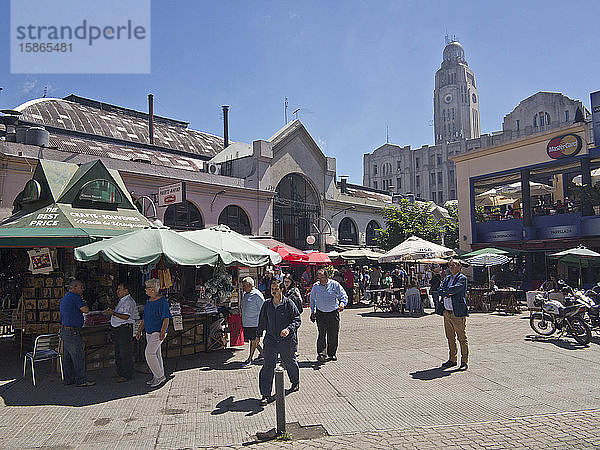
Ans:
{"label": "man in light blue long-sleeved shirt and black trousers, walking", "polygon": [[[319,330],[317,360],[337,361],[340,311],[348,303],[348,296],[340,283],[329,279],[325,270],[317,270],[317,280],[310,291],[310,320],[314,322],[316,319]],[[327,355],[324,353],[326,346]]]}

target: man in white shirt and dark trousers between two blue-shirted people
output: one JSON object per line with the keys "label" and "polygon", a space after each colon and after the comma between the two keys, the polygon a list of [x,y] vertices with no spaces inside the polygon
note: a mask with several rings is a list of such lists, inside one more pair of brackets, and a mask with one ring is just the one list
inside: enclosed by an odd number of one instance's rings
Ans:
{"label": "man in white shirt and dark trousers between two blue-shirted people", "polygon": [[135,300],[129,295],[129,286],[122,282],[117,286],[119,303],[113,310],[104,311],[110,317],[110,325],[115,343],[115,363],[119,383],[129,381],[133,377],[133,324],[139,318]]}

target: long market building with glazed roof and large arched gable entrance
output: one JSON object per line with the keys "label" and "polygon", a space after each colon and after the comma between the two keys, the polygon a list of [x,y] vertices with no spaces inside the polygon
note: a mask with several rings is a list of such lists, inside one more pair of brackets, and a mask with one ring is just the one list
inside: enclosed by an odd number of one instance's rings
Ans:
{"label": "long market building with glazed roof and large arched gable entrance", "polygon": [[[337,179],[306,128],[293,120],[251,144],[188,128],[186,122],[70,95],[27,102],[3,117],[0,214],[41,159],[117,169],[146,217],[175,229],[228,225],[245,235],[269,235],[298,248],[307,236],[324,247],[374,245],[381,210],[391,196]],[[157,205],[158,188],[185,182],[185,200]],[[320,240],[320,245],[319,245]]]}

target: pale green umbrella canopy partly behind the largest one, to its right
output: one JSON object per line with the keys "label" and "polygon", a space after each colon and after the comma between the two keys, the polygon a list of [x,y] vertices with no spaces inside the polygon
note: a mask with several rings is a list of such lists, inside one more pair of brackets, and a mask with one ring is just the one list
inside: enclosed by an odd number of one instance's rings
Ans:
{"label": "pale green umbrella canopy partly behind the largest one, to its right", "polygon": [[229,258],[223,258],[225,265],[239,264],[247,267],[260,267],[281,262],[279,253],[236,233],[227,225],[217,225],[204,230],[184,231],[181,235],[202,246],[229,255]]}

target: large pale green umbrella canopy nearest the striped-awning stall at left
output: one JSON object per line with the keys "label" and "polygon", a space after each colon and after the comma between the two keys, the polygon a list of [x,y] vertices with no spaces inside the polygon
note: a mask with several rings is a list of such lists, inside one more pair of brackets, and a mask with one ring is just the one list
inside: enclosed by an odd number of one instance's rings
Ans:
{"label": "large pale green umbrella canopy nearest the striped-awning stall at left", "polygon": [[145,266],[164,257],[171,264],[182,266],[214,266],[222,258],[231,260],[227,252],[219,252],[190,241],[169,228],[143,228],[75,249],[78,261],[104,259],[133,266]]}

